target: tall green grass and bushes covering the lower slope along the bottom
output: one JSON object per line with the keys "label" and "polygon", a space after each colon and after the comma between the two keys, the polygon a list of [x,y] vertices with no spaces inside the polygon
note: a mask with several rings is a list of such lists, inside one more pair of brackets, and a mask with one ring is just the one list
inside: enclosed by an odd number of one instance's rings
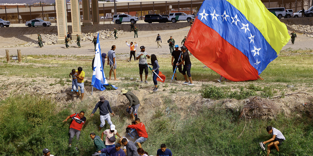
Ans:
{"label": "tall green grass and bushes covering the lower slope along the bottom", "polygon": [[[280,146],[281,152],[272,150],[271,156],[312,156],[312,118],[305,114],[301,117],[294,114],[289,118],[280,114],[276,120],[247,119],[246,129],[238,138],[245,126],[245,120],[238,118],[240,112],[205,107],[197,110],[190,106],[189,109],[193,111],[186,114],[186,117],[181,117],[180,109],[170,98],[164,97],[163,101],[166,106],[150,110],[148,113],[153,113],[153,116],[144,121],[149,137],[142,144],[142,148],[150,155],[156,155],[160,144],[165,143],[175,156],[262,156],[258,143],[271,137],[265,129],[271,125],[286,137],[286,141]],[[91,109],[88,109],[87,103],[72,107],[73,104],[56,112],[55,103],[48,98],[26,95],[2,100],[0,155],[38,156],[44,148],[48,148],[55,156],[93,154],[95,149],[89,133],[100,135],[97,131],[100,124],[99,113],[90,118]],[[120,108],[112,109],[116,114],[112,121],[119,134],[123,135],[128,117]],[[67,122],[62,121],[68,115],[81,110],[86,112],[87,122],[80,140],[73,140],[73,145],[79,147],[79,151],[76,151],[74,148],[67,148],[70,119]],[[193,113],[196,115],[192,115]]]}

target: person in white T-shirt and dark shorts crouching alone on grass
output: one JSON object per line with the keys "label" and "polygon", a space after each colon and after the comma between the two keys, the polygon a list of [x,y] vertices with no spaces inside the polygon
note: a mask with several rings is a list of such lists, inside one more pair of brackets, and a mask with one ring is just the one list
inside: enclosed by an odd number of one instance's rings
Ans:
{"label": "person in white T-shirt and dark shorts crouching alone on grass", "polygon": [[[263,150],[265,150],[265,144],[269,142],[268,144],[268,155],[270,153],[270,149],[272,147],[275,147],[277,152],[279,152],[279,148],[278,146],[282,144],[282,142],[284,140],[286,140],[286,138],[284,137],[284,135],[279,131],[277,130],[276,128],[272,127],[272,126],[268,126],[266,128],[266,130],[268,131],[268,134],[271,134],[273,137],[270,138],[269,140],[267,141],[264,141],[264,142],[260,142],[260,146]],[[268,156],[267,155],[267,156]]]}

